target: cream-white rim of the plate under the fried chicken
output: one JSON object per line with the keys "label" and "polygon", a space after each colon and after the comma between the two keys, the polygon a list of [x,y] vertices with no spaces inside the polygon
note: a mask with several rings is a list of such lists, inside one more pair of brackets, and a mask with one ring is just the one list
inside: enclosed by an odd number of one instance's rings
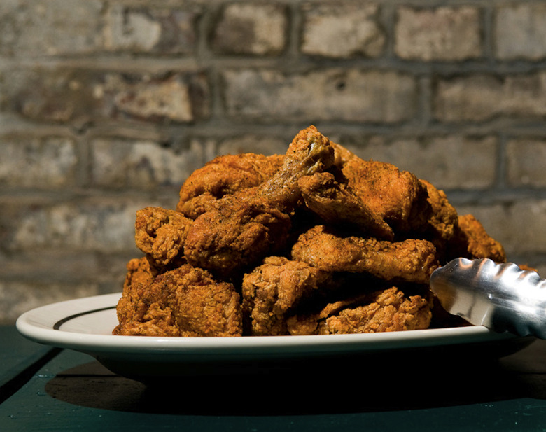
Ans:
{"label": "cream-white rim of the plate under the fried chicken", "polygon": [[[20,315],[16,328],[34,342],[59,348],[98,354],[249,354],[275,350],[277,353],[320,353],[446,346],[470,342],[495,342],[517,338],[511,333],[495,333],[484,326],[405,330],[389,333],[351,335],[245,336],[245,337],[151,337],[78,333],[52,328],[52,323],[80,312],[113,309],[121,293],[94,295],[36,307]],[[90,305],[94,306],[90,308]],[[59,314],[57,311],[69,309]],[[54,313],[53,313],[54,312]],[[43,316],[50,314],[47,321]],[[62,316],[63,315],[63,316]]]}

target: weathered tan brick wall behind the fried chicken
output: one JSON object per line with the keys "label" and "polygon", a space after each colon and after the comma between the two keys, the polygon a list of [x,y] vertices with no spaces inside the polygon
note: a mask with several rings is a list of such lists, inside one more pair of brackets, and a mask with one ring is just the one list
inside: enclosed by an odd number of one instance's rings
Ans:
{"label": "weathered tan brick wall behind the fried chicken", "polygon": [[120,291],[134,212],[313,123],[546,270],[540,1],[2,0],[0,322]]}

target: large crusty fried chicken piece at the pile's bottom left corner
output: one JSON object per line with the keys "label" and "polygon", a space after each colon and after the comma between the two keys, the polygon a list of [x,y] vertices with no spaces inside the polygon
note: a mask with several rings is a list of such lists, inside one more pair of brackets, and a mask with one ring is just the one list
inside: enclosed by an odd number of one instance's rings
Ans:
{"label": "large crusty fried chicken piece at the pile's bottom left corner", "polygon": [[118,304],[115,335],[242,335],[239,294],[205,270],[185,264],[131,285]]}

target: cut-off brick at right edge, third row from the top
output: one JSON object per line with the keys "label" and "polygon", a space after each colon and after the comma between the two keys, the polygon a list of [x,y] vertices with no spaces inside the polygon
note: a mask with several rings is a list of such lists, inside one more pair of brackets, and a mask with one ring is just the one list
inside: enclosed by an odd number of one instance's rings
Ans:
{"label": "cut-off brick at right edge, third row from the top", "polygon": [[506,156],[510,186],[546,186],[546,139],[511,139]]}

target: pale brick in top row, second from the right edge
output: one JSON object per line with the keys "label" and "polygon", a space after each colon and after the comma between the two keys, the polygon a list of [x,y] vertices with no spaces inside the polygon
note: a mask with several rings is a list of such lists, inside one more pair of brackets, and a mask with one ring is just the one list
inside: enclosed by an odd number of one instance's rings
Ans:
{"label": "pale brick in top row, second from the right edge", "polygon": [[400,6],[397,17],[395,53],[402,59],[454,61],[482,55],[479,8]]}

